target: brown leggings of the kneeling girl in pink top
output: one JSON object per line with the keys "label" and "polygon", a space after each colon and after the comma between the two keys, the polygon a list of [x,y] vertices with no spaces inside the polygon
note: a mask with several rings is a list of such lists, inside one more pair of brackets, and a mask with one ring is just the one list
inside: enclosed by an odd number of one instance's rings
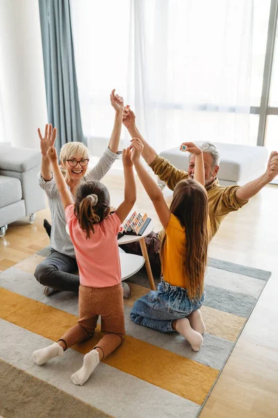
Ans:
{"label": "brown leggings of the kneeling girl in pink top", "polygon": [[107,288],[79,286],[79,321],[59,341],[66,348],[85,341],[95,334],[97,320],[101,316],[101,332],[105,335],[97,346],[104,357],[122,344],[124,330],[124,302],[122,284]]}

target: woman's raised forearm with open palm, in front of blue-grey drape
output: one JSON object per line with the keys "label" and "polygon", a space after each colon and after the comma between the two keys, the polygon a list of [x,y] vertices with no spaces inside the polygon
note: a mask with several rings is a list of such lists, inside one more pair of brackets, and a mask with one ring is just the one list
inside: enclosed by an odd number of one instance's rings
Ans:
{"label": "woman's raised forearm with open palm, in front of blue-grey drape", "polygon": [[52,130],[52,125],[45,125],[44,137],[40,132],[40,128],[38,127],[38,134],[40,137],[40,152],[42,153],[42,165],[40,167],[40,173],[44,180],[51,180],[52,178],[52,171],[51,171],[51,164],[47,157],[47,151],[51,146],[54,146],[55,139],[56,139],[56,127]]}

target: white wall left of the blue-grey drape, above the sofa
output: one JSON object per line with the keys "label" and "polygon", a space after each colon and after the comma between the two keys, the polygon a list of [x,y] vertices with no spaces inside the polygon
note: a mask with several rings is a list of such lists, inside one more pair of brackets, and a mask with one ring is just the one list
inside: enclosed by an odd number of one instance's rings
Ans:
{"label": "white wall left of the blue-grey drape, above the sofa", "polygon": [[0,141],[39,148],[47,101],[38,1],[0,0],[0,54]]}

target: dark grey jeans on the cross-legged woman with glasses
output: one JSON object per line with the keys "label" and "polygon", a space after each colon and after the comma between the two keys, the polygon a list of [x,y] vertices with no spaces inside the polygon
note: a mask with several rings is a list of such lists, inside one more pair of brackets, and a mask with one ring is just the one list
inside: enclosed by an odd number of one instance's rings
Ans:
{"label": "dark grey jeans on the cross-legged woman with glasses", "polygon": [[57,291],[79,293],[79,276],[76,258],[65,256],[51,248],[50,255],[35,269],[35,278],[40,284]]}

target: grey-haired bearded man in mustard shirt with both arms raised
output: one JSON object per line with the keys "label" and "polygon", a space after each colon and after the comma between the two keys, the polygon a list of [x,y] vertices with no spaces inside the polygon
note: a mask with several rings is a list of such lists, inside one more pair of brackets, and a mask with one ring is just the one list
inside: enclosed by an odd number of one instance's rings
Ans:
{"label": "grey-haired bearded man in mustard shirt with both arms raised", "polygon": [[[171,190],[174,190],[174,187],[180,180],[194,178],[195,155],[190,155],[188,172],[176,169],[176,167],[163,157],[159,157],[154,148],[142,138],[142,135],[136,127],[133,111],[124,111],[123,123],[129,130],[132,138],[140,138],[144,144],[142,157],[158,178],[163,180]],[[203,150],[204,155],[205,187],[208,193],[208,215],[211,221],[211,233],[213,236],[229,212],[234,212],[242,208],[251,197],[255,196],[255,194],[277,176],[278,153],[277,151],[272,151],[268,160],[268,167],[265,173],[259,178],[252,180],[244,186],[232,185],[224,187],[219,184],[217,178],[220,162],[218,148],[208,142],[204,142],[200,148]],[[149,235],[146,238],[146,245],[152,270],[154,274],[160,274],[161,262],[159,251],[161,247],[161,233],[152,233]],[[121,247],[126,252],[140,254],[138,242],[122,245]]]}

